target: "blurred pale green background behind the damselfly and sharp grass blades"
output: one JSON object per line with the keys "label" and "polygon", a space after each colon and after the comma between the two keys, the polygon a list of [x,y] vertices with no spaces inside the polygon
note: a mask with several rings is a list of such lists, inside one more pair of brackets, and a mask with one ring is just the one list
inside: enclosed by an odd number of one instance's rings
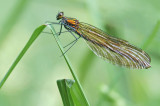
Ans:
{"label": "blurred pale green background behind the damselfly and sharp grass blades", "polygon": [[[67,55],[91,106],[160,105],[159,0],[0,0],[0,80],[32,32],[58,11],[144,48],[151,68],[129,70],[93,54],[80,39]],[[57,32],[60,26],[55,25]],[[46,31],[49,31],[46,29]],[[63,45],[74,38],[60,37]],[[72,79],[54,37],[41,34],[0,90],[0,106],[62,106],[58,79]]]}

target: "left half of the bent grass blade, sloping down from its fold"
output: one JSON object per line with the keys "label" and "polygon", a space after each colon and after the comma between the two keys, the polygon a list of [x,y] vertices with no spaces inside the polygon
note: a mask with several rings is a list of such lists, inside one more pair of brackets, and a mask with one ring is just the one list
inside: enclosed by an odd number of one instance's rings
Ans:
{"label": "left half of the bent grass blade, sloping down from its fold", "polygon": [[16,58],[16,60],[13,62],[13,64],[9,68],[8,72],[4,76],[4,78],[2,79],[2,81],[0,83],[0,88],[3,86],[3,84],[5,83],[5,81],[7,80],[7,78],[9,77],[9,75],[11,74],[11,72],[13,71],[13,69],[16,67],[16,65],[21,60],[21,58],[23,57],[23,55],[26,53],[26,51],[28,50],[28,48],[32,45],[32,43],[35,41],[35,39],[39,36],[39,34],[43,31],[43,29],[45,27],[46,27],[46,25],[41,25],[40,27],[38,27],[33,32],[32,36],[29,39],[29,41],[27,42],[27,44],[25,45],[25,47],[22,49],[22,51],[20,52],[20,54],[18,55],[18,57]]}

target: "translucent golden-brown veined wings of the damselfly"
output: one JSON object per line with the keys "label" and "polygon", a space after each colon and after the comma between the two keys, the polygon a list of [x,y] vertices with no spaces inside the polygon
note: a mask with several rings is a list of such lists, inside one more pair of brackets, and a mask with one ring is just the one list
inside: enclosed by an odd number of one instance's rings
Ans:
{"label": "translucent golden-brown veined wings of the damselfly", "polygon": [[86,40],[90,49],[104,60],[127,68],[151,67],[149,55],[125,40],[109,36],[86,23],[80,23],[77,31]]}

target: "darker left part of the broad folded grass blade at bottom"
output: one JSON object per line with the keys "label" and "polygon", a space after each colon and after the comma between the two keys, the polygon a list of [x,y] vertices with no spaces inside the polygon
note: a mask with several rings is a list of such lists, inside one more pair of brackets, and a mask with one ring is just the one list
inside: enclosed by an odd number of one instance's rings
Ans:
{"label": "darker left part of the broad folded grass blade at bottom", "polygon": [[70,89],[75,81],[70,79],[62,79],[57,81],[58,89],[60,91],[64,106],[74,106]]}

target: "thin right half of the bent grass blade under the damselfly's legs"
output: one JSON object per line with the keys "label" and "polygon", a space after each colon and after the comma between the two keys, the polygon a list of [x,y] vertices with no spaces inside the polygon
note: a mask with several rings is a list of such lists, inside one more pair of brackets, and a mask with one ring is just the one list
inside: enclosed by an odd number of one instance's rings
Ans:
{"label": "thin right half of the bent grass blade under the damselfly's legs", "polygon": [[[60,48],[60,50],[61,50],[61,52],[62,52],[62,54],[63,54],[63,53],[64,53],[64,50],[63,50],[63,47],[61,46],[61,43],[60,43],[60,41],[59,41],[59,39],[58,39],[58,35],[57,35],[54,27],[53,27],[52,25],[50,25],[50,24],[48,24],[48,27],[49,27],[50,30],[52,31],[52,33],[53,33],[53,35],[54,35],[54,37],[55,37],[55,39],[56,39],[56,42],[57,42],[57,44],[58,44],[58,46],[59,46],[59,48]],[[74,70],[73,70],[73,68],[72,68],[72,65],[71,65],[68,57],[67,57],[65,54],[63,55],[63,57],[64,57],[67,65],[68,65],[68,67],[69,67],[69,69],[70,69],[70,72],[71,72],[71,74],[72,74],[72,76],[73,76],[73,78],[74,78],[74,80],[75,80],[75,84],[76,84],[76,86],[77,86],[76,92],[79,92],[80,103],[85,104],[85,105],[83,105],[83,106],[89,106],[89,102],[88,102],[87,98],[85,97],[85,95],[84,95],[84,93],[83,93],[83,90],[82,90],[82,87],[81,87],[81,85],[80,85],[80,82],[79,82],[76,74],[74,73]]]}

